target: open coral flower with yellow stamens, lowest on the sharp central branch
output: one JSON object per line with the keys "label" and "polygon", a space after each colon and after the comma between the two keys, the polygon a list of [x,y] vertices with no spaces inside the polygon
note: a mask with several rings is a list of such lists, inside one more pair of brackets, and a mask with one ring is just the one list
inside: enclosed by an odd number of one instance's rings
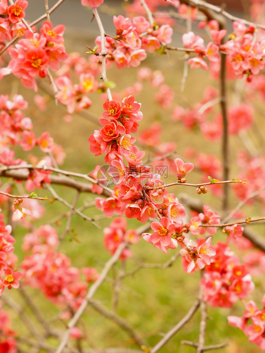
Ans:
{"label": "open coral flower with yellow stamens, lowest on the sharp central branch", "polygon": [[160,243],[161,246],[169,246],[171,243],[171,235],[174,233],[174,225],[169,219],[162,217],[160,223],[152,222],[151,228],[155,231],[151,235],[152,243]]}

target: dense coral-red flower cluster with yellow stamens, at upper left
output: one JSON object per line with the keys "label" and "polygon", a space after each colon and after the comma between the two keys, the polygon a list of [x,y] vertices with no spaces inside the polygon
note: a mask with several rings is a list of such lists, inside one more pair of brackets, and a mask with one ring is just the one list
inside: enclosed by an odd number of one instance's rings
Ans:
{"label": "dense coral-red flower cluster with yellow stamens, at upper left", "polygon": [[[22,1],[22,0],[20,0]],[[40,29],[41,33],[25,32],[25,39],[20,39],[16,48],[9,51],[11,61],[8,68],[21,79],[27,88],[37,91],[36,76],[47,76],[47,68],[57,71],[60,61],[67,59],[68,54],[64,47],[64,25],[53,28],[50,21],[45,21]]]}

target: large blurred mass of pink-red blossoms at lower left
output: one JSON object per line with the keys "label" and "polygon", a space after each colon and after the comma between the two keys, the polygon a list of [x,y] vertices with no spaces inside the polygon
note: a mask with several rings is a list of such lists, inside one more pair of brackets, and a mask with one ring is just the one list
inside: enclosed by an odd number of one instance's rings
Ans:
{"label": "large blurred mass of pink-red blossoms at lower left", "polygon": [[[23,238],[23,251],[31,251],[21,263],[25,283],[40,291],[55,304],[69,304],[78,309],[87,293],[88,282],[98,278],[96,269],[79,270],[71,266],[70,259],[55,252],[59,238],[49,225],[41,226]],[[85,281],[81,280],[81,273]],[[68,312],[71,315],[70,312]]]}

